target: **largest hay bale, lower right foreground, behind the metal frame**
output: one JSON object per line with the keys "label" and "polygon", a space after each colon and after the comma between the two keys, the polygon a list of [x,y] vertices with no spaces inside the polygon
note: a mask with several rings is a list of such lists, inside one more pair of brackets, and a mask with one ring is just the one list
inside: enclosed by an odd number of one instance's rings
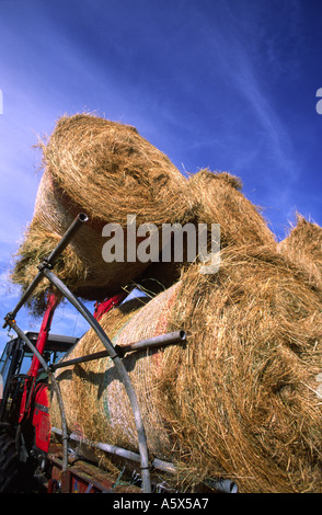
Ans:
{"label": "largest hay bale, lower right foreground, behind the metal frame", "polygon": [[[179,483],[223,477],[241,492],[322,492],[321,300],[303,270],[253,245],[222,251],[215,275],[192,265],[147,305],[128,302],[101,320],[118,345],[187,333],[186,346],[124,358],[150,453],[176,465]],[[102,348],[89,331],[68,357]],[[56,377],[70,431],[137,450],[111,359]],[[53,425],[57,413],[54,399]]]}

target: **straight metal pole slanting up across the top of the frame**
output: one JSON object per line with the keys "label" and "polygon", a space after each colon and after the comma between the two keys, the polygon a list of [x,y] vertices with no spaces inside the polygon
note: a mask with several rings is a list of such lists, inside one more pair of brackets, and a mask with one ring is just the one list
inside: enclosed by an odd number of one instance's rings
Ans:
{"label": "straight metal pole slanting up across the top of the frame", "polygon": [[71,224],[69,229],[65,232],[65,234],[62,236],[62,238],[59,241],[59,243],[57,244],[57,247],[53,250],[49,258],[46,258],[44,260],[43,265],[39,265],[39,272],[37,273],[34,281],[31,283],[31,285],[27,287],[25,293],[23,294],[22,298],[20,299],[20,301],[15,306],[14,310],[11,311],[10,313],[8,313],[7,317],[4,318],[5,322],[3,324],[3,329],[7,328],[9,320],[14,320],[15,319],[16,313],[20,311],[20,309],[27,301],[27,299],[32,296],[32,294],[34,293],[34,290],[36,289],[38,284],[41,283],[42,278],[43,278],[41,267],[44,266],[44,265],[51,267],[55,264],[55,262],[57,261],[57,258],[61,254],[61,252],[70,243],[70,241],[74,237],[76,232],[80,229],[82,224],[84,224],[85,221],[88,221],[88,216],[84,213],[80,213],[77,216],[77,218],[73,220],[73,222]]}

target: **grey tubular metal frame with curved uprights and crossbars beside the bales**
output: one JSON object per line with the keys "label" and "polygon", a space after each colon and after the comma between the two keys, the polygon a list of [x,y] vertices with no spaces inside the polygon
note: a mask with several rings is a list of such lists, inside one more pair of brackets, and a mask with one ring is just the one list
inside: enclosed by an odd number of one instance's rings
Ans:
{"label": "grey tubular metal frame with curved uprights and crossbars beside the bales", "polygon": [[[168,335],[161,335],[156,339],[149,339],[141,342],[136,342],[131,345],[127,346],[113,346],[111,340],[108,339],[107,334],[104,332],[97,320],[93,317],[93,314],[87,309],[87,307],[69,290],[69,288],[53,273],[53,267],[61,254],[61,252],[66,249],[66,247],[70,243],[74,234],[80,230],[83,224],[88,221],[88,216],[83,213],[79,214],[78,217],[73,220],[69,229],[62,236],[61,240],[57,244],[57,247],[53,250],[50,255],[45,259],[38,265],[38,273],[34,281],[31,283],[13,311],[9,312],[4,317],[4,324],[3,328],[10,327],[12,328],[16,334],[26,343],[30,350],[34,353],[34,355],[39,360],[43,369],[48,374],[48,377],[53,384],[55,393],[57,394],[59,410],[60,410],[60,417],[61,417],[61,438],[62,438],[62,450],[64,450],[64,458],[62,458],[62,471],[66,471],[68,468],[68,433],[67,433],[67,422],[65,416],[65,409],[64,402],[59,389],[59,385],[53,374],[53,371],[61,366],[69,366],[76,363],[82,363],[90,359],[97,359],[100,357],[110,356],[113,359],[114,366],[119,375],[120,380],[126,389],[127,396],[130,401],[131,410],[134,413],[135,424],[138,434],[138,446],[139,446],[139,458],[140,458],[140,468],[141,468],[141,478],[142,478],[142,490],[145,493],[151,492],[151,481],[150,481],[150,462],[149,462],[149,453],[148,453],[148,445],[147,445],[147,437],[146,432],[142,423],[142,417],[140,413],[139,403],[137,400],[137,396],[135,389],[131,385],[130,378],[127,374],[125,365],[122,362],[122,357],[127,352],[136,351],[138,348],[150,348],[159,345],[168,345],[171,343],[177,342],[185,342],[185,333],[184,331],[177,331],[175,333],[170,333]],[[82,358],[65,362],[65,364],[56,365],[56,366],[48,366],[44,360],[42,354],[37,351],[37,348],[33,345],[33,343],[28,340],[26,334],[16,325],[15,317],[20,309],[24,306],[24,304],[28,300],[28,298],[33,295],[35,288],[39,284],[43,277],[46,277],[61,294],[66,297],[74,308],[82,314],[82,317],[89,322],[91,328],[95,331],[97,336],[100,337],[101,342],[105,346],[105,352],[96,353],[89,356],[83,356]],[[41,370],[39,370],[41,371]]]}

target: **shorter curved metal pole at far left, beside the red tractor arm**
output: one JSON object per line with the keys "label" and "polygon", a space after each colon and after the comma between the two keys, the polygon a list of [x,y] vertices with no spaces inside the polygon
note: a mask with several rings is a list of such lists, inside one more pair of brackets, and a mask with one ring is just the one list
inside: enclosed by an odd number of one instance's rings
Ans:
{"label": "shorter curved metal pole at far left, beside the red tractor arm", "polygon": [[48,374],[49,379],[51,380],[53,387],[55,389],[55,392],[57,394],[58,399],[58,405],[60,410],[60,416],[61,416],[61,430],[62,430],[62,470],[67,470],[68,467],[68,448],[67,448],[67,422],[66,422],[66,415],[65,415],[65,409],[64,409],[64,403],[61,399],[61,393],[59,389],[59,385],[56,381],[55,376],[51,374],[47,363],[43,358],[42,354],[37,351],[37,348],[32,344],[30,339],[26,336],[26,334],[16,325],[16,323],[13,320],[9,320],[8,324],[16,332],[16,334],[23,340],[26,345],[30,347],[30,350],[34,353],[34,355],[39,359],[41,365],[45,369],[45,371]]}

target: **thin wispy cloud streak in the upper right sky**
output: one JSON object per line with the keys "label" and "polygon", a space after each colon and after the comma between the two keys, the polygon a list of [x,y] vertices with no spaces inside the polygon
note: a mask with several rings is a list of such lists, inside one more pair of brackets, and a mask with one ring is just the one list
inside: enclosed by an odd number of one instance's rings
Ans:
{"label": "thin wispy cloud streak in the upper right sky", "polygon": [[[297,2],[296,2],[297,3]],[[221,24],[220,19],[216,26],[212,26],[211,37],[217,47],[217,57],[221,66],[221,75],[226,82],[231,82],[231,89],[235,90],[235,95],[244,100],[244,110],[241,110],[244,116],[242,124],[248,130],[248,125],[252,124],[254,136],[257,135],[257,144],[265,142],[266,156],[288,174],[288,179],[295,179],[297,168],[294,167],[295,149],[290,134],[285,121],[278,113],[278,105],[269,91],[267,81],[269,71],[275,80],[283,72],[280,70],[280,56],[277,56],[277,43],[269,44],[269,48],[264,50],[266,34],[258,30],[261,18],[266,15],[263,9],[263,2],[258,2],[256,16],[240,2],[220,2],[226,23]],[[258,7],[260,5],[260,7]],[[295,11],[290,12],[287,19],[287,27],[292,25],[291,20],[297,15]],[[208,25],[214,24],[214,19]],[[274,20],[271,20],[273,23]],[[266,26],[264,24],[264,26]],[[210,26],[209,26],[210,28]],[[276,31],[273,32],[276,36]],[[283,23],[278,25],[278,44],[288,46],[289,41],[294,39],[294,34],[289,30],[283,32]],[[268,56],[269,55],[269,59]],[[277,68],[278,64],[278,68]],[[272,77],[271,76],[271,77]],[[237,112],[230,115],[234,121],[241,122]],[[237,127],[241,129],[241,126]],[[254,137],[256,140],[256,136]],[[269,149],[269,151],[268,151]]]}

